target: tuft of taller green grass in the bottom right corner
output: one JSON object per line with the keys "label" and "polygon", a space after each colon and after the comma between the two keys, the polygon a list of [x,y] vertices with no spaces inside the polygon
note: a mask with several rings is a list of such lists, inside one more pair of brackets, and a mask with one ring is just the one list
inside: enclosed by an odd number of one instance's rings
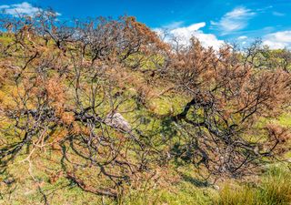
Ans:
{"label": "tuft of taller green grass in the bottom right corner", "polygon": [[226,184],[213,199],[219,205],[281,205],[291,204],[290,169],[282,164],[272,166],[256,187],[250,184]]}

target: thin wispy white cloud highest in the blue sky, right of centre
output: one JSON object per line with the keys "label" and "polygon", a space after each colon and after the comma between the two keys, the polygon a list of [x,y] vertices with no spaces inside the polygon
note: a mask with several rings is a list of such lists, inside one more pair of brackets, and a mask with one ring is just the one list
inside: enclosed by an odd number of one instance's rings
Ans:
{"label": "thin wispy white cloud highest in the blue sky, right of centre", "polygon": [[247,21],[254,15],[256,15],[256,12],[240,6],[223,15],[218,22],[211,21],[211,25],[221,30],[222,35],[227,35],[233,31],[245,28]]}

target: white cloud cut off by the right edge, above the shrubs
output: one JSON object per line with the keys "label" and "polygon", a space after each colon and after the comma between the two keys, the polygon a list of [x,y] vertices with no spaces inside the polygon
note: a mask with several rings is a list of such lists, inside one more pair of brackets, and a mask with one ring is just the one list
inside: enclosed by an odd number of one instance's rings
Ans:
{"label": "white cloud cut off by the right edge, above the shrubs", "polygon": [[270,48],[291,48],[291,30],[279,31],[263,37],[263,44]]}

